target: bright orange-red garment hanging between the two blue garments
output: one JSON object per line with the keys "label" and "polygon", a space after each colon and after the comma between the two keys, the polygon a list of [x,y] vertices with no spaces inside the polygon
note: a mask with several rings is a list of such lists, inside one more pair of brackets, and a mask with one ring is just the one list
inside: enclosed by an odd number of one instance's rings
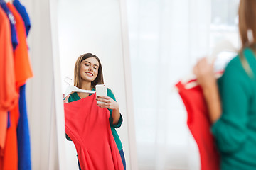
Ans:
{"label": "bright orange-red garment hanging between the two blue garments", "polygon": [[[14,72],[15,72],[15,85],[16,91],[19,92],[20,86],[26,83],[28,78],[33,77],[31,64],[28,58],[28,46],[26,43],[26,29],[16,8],[10,4],[6,4],[14,15],[16,20],[15,28],[18,38],[18,46],[14,50]],[[6,132],[6,146],[4,148],[4,170],[18,169],[18,144],[17,144],[17,126],[18,126],[18,103],[10,111],[11,126]],[[7,145],[8,144],[8,145]]]}

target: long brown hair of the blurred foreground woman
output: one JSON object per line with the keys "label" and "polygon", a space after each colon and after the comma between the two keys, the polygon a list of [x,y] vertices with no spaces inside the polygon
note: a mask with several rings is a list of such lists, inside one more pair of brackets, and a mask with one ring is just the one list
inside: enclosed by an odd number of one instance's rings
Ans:
{"label": "long brown hair of the blurred foreground woman", "polygon": [[[242,48],[240,49],[239,57],[245,72],[247,72],[249,75],[252,75],[252,70],[250,69],[250,65],[243,55],[243,50],[245,47],[250,47],[254,53],[256,52],[256,0],[240,0],[238,16],[239,33],[242,42]],[[248,37],[248,31],[252,33],[253,41],[250,41],[250,38]]]}

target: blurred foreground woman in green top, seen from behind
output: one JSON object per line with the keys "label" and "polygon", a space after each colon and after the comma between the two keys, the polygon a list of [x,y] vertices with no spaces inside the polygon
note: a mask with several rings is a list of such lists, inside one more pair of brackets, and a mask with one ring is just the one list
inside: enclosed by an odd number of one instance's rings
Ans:
{"label": "blurred foreground woman in green top, seen from behind", "polygon": [[[242,48],[216,81],[206,58],[194,67],[203,88],[221,169],[256,169],[256,1],[240,0]],[[252,38],[247,32],[252,31]],[[251,40],[250,40],[251,39]]]}

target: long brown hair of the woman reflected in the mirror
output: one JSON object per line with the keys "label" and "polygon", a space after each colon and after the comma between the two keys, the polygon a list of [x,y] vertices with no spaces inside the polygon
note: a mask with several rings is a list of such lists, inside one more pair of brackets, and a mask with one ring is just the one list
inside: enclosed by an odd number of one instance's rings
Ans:
{"label": "long brown hair of the woman reflected in the mirror", "polygon": [[82,88],[82,78],[80,75],[80,69],[81,69],[81,62],[87,58],[93,57],[99,62],[99,69],[97,77],[94,81],[92,81],[92,87],[95,88],[96,84],[104,84],[103,80],[103,73],[102,73],[102,64],[100,63],[100,59],[96,55],[92,55],[92,53],[86,53],[84,55],[80,55],[78,59],[75,62],[75,69],[74,69],[74,86],[78,88]]}

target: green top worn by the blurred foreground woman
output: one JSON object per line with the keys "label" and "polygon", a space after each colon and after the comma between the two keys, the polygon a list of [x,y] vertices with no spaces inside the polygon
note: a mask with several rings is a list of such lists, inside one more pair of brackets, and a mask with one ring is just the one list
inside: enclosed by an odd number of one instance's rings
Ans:
{"label": "green top worn by the blurred foreground woman", "polygon": [[222,170],[256,169],[256,60],[249,48],[243,53],[253,77],[248,76],[236,56],[218,80],[223,113],[211,130]]}

